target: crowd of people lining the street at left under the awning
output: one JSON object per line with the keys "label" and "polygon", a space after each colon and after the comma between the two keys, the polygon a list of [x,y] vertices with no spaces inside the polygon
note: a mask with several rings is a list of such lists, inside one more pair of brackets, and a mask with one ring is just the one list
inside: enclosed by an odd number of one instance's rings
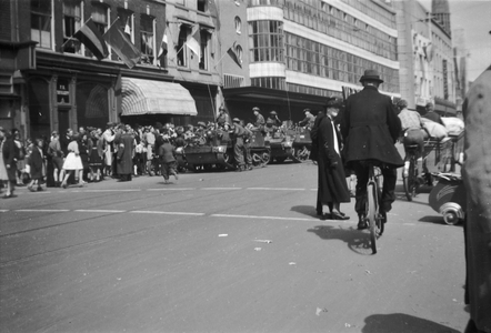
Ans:
{"label": "crowd of people lining the street at left under the awning", "polygon": [[[50,138],[21,140],[20,131],[0,128],[0,188],[4,198],[14,196],[16,186],[27,185],[32,192],[43,184],[54,188],[83,186],[106,178],[131,181],[138,175],[162,175],[179,179],[176,152],[187,145],[232,144],[237,171],[252,170],[250,143],[252,131],[271,133],[281,127],[274,111],[268,121],[257,111],[257,122],[243,121],[220,108],[214,122],[176,127],[172,123],[134,125],[108,122],[106,129],[80,127],[53,131]],[[262,120],[261,120],[262,119]]]}

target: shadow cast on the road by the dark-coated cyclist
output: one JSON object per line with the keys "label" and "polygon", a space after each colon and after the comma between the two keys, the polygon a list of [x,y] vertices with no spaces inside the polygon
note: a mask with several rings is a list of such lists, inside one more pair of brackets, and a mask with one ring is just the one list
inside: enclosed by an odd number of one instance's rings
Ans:
{"label": "shadow cast on the road by the dark-coated cyclist", "polygon": [[315,233],[322,240],[338,240],[348,244],[351,251],[358,254],[371,255],[370,234],[353,226],[342,228],[333,225],[317,225],[307,231]]}

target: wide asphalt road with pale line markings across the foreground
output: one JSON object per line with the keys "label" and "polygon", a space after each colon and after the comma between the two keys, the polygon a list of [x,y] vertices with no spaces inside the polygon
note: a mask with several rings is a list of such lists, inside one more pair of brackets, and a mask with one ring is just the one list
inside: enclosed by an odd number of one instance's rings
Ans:
{"label": "wide asphalt road with pale line markings across the foreground", "polygon": [[1,332],[461,332],[462,226],[398,200],[379,252],[315,216],[317,167],[0,199]]}

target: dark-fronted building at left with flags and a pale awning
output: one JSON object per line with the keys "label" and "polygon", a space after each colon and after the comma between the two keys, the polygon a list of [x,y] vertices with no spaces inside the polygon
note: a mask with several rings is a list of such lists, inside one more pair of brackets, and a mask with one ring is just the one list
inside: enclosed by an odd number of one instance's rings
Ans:
{"label": "dark-fronted building at left with flags and a pale awning", "polygon": [[[24,135],[107,122],[214,118],[220,83],[208,1],[1,1],[0,120]],[[189,2],[189,3],[188,3]],[[186,6],[184,6],[186,4]],[[102,34],[119,24],[141,52],[133,68],[113,50],[97,60],[73,34],[91,18]],[[200,58],[183,47],[199,31]],[[159,58],[163,36],[167,57]],[[156,115],[157,114],[157,115]]]}

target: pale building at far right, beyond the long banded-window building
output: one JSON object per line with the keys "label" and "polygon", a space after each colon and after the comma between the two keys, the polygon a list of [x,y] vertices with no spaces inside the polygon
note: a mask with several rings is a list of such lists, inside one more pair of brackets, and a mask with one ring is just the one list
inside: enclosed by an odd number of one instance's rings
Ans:
{"label": "pale building at far right, beyond the long banded-window building", "polygon": [[433,1],[433,12],[417,0],[393,4],[398,11],[401,97],[411,109],[422,111],[432,102],[437,112],[454,115],[457,81],[448,1]]}

